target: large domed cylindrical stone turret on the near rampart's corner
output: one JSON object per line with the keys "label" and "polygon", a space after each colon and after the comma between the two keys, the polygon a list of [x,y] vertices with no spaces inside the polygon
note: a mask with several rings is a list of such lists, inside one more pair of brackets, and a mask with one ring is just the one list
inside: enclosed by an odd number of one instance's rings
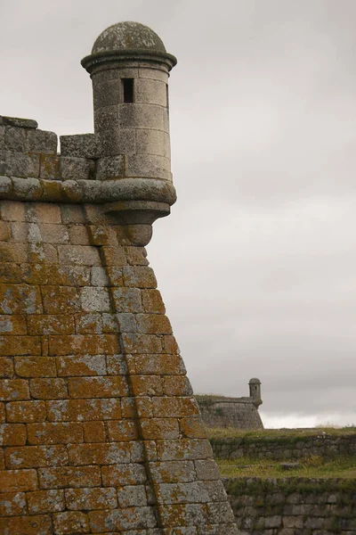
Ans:
{"label": "large domed cylindrical stone turret on the near rampart's corner", "polygon": [[132,243],[150,241],[151,225],[169,214],[172,184],[168,77],[176,59],[138,22],[118,22],[82,61],[93,80],[94,132],[101,143],[96,178],[120,181],[122,200],[106,210]]}

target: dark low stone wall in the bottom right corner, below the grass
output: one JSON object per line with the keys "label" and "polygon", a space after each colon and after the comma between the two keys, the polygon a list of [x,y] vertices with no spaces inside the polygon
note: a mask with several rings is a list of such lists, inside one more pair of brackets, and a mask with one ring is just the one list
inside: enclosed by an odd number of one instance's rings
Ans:
{"label": "dark low stone wall in the bottom right corner, below the grass", "polygon": [[224,485],[243,534],[356,533],[354,480],[237,478]]}

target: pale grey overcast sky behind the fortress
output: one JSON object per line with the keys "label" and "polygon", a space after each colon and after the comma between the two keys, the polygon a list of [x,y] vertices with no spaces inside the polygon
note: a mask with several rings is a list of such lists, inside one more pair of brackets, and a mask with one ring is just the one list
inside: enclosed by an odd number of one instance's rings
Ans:
{"label": "pale grey overcast sky behind the fortress", "polygon": [[93,131],[80,60],[139,21],[170,78],[178,202],[150,265],[197,393],[356,424],[356,2],[0,0],[0,114]]}

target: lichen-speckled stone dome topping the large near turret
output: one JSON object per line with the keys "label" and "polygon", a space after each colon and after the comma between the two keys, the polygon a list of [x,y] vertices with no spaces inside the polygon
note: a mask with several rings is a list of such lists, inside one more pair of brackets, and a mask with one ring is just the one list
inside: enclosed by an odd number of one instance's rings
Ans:
{"label": "lichen-speckled stone dome topping the large near turret", "polygon": [[157,33],[140,22],[117,22],[104,29],[96,39],[92,53],[115,50],[155,50],[166,53],[166,47]]}

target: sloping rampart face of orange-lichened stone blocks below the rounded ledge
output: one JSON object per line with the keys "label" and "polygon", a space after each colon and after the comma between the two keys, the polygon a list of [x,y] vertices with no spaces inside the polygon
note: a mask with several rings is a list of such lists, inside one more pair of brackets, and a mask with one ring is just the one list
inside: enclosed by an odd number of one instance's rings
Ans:
{"label": "sloping rampart face of orange-lichened stone blocks below the rounded ledge", "polygon": [[0,533],[235,532],[145,250],[93,205],[0,216]]}

